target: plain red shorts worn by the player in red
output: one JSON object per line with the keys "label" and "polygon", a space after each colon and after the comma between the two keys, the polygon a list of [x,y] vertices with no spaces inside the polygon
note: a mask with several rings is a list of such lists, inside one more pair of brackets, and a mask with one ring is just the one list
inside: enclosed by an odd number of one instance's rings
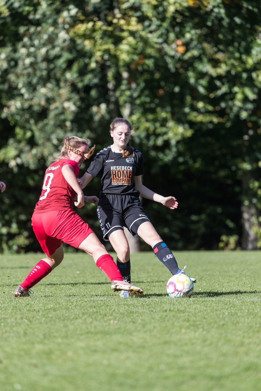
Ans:
{"label": "plain red shorts worn by the player in red", "polygon": [[78,248],[93,230],[72,209],[34,213],[32,228],[44,253],[52,255],[65,242]]}

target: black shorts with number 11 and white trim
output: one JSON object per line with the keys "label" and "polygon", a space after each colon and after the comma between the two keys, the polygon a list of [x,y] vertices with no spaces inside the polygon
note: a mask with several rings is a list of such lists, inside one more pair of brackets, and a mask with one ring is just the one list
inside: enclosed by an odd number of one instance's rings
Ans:
{"label": "black shorts with number 11 and white trim", "polygon": [[149,221],[137,195],[103,194],[97,207],[97,216],[106,241],[112,232],[123,230],[124,226],[132,236],[137,236],[140,224]]}

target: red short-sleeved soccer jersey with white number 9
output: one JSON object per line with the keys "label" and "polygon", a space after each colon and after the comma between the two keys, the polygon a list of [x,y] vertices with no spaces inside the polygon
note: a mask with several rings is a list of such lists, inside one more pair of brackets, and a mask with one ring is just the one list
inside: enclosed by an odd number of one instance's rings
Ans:
{"label": "red short-sleeved soccer jersey with white number 9", "polygon": [[60,159],[52,163],[45,171],[40,199],[35,206],[35,213],[49,210],[73,209],[76,192],[65,180],[61,169],[65,164],[72,166],[76,177],[79,175],[79,164],[74,160]]}

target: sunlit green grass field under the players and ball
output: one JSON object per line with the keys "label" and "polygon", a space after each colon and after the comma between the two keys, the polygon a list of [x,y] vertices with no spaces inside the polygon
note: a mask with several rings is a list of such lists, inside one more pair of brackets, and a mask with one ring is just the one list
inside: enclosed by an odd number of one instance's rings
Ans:
{"label": "sunlit green grass field under the players and ball", "polygon": [[167,296],[152,252],[131,259],[144,295],[121,299],[80,251],[14,298],[41,258],[0,255],[1,391],[259,391],[261,251],[175,255],[191,299]]}

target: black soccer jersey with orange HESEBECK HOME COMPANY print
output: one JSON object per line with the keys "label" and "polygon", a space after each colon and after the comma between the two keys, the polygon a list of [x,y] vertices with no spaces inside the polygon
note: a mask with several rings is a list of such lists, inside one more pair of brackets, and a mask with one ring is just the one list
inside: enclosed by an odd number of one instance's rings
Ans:
{"label": "black soccer jersey with orange HESEBECK HOME COMPANY print", "polygon": [[140,151],[132,149],[134,156],[129,158],[113,152],[110,146],[97,153],[86,172],[101,176],[101,193],[139,194],[134,188],[134,176],[143,174],[143,159]]}

